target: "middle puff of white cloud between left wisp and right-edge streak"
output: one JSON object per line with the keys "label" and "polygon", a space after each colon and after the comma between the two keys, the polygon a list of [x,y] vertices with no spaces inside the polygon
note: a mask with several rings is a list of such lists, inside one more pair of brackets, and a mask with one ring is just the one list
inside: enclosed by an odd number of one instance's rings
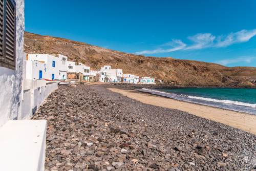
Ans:
{"label": "middle puff of white cloud between left wisp and right-edge streak", "polygon": [[198,33],[194,36],[189,36],[188,39],[194,42],[193,45],[186,49],[203,49],[214,45],[215,36],[211,33]]}

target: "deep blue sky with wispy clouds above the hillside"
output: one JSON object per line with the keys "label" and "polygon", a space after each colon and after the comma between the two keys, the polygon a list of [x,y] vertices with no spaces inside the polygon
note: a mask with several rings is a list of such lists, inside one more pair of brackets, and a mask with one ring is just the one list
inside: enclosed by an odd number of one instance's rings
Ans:
{"label": "deep blue sky with wispy clouds above the hillside", "polygon": [[256,67],[255,0],[26,0],[25,27],[127,53]]}

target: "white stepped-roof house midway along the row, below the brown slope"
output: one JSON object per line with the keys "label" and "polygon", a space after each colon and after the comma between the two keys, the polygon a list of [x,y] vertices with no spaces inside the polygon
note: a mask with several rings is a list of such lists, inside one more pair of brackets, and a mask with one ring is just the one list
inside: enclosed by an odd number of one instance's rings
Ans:
{"label": "white stepped-roof house midway along the row, below the brown slope", "polygon": [[100,82],[121,82],[123,76],[122,69],[111,69],[111,66],[104,66],[99,72]]}

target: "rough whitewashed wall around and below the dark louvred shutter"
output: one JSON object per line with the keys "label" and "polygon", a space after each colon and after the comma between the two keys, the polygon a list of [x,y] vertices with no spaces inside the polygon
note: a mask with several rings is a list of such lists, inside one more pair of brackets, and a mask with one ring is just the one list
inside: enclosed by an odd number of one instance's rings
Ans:
{"label": "rough whitewashed wall around and below the dark louvred shutter", "polygon": [[0,67],[0,127],[18,118],[24,61],[24,0],[16,0],[16,68]]}

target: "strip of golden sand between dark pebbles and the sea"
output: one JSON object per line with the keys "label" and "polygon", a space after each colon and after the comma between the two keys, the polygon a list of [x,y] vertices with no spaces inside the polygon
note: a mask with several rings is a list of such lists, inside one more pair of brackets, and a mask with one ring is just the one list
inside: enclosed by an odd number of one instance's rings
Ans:
{"label": "strip of golden sand between dark pebbles and the sea", "polygon": [[213,108],[210,106],[183,102],[175,99],[160,97],[135,90],[122,90],[110,88],[109,90],[120,93],[142,103],[161,106],[169,109],[177,109],[205,119],[217,121],[243,131],[256,135],[256,115],[234,112]]}

